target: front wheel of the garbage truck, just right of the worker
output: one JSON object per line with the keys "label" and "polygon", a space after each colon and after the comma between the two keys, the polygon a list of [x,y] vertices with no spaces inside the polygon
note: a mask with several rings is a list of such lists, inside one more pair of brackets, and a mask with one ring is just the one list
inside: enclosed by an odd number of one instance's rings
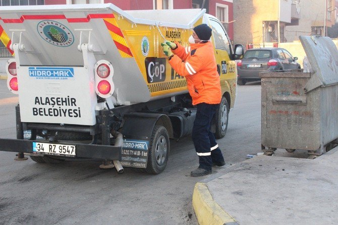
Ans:
{"label": "front wheel of the garbage truck, just right of the worker", "polygon": [[216,139],[220,139],[226,136],[229,121],[229,104],[224,96],[222,97],[219,107],[216,110],[215,119],[216,132],[214,135]]}

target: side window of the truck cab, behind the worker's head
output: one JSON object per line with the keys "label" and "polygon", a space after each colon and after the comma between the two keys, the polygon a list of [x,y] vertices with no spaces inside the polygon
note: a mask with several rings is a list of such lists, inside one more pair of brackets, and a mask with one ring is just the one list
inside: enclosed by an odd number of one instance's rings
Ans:
{"label": "side window of the truck cab, behind the worker's head", "polygon": [[224,31],[222,25],[215,20],[210,20],[210,25],[212,28],[213,38],[215,39],[215,48],[226,50],[229,54],[231,54],[228,35],[226,31]]}

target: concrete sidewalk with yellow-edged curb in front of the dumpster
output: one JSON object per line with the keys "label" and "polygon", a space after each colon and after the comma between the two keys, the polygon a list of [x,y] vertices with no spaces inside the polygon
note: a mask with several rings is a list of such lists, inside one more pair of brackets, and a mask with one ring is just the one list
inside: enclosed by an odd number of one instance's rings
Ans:
{"label": "concrete sidewalk with yellow-edged curb in front of the dumpster", "polygon": [[316,159],[260,155],[197,183],[199,224],[336,224],[338,147]]}

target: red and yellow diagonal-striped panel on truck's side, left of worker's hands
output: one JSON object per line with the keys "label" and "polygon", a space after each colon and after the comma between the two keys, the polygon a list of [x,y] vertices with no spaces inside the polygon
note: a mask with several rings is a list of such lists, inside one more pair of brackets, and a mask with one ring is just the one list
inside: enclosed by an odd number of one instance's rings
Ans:
{"label": "red and yellow diagonal-striped panel on truck's side, left of worker's hands", "polygon": [[116,47],[119,49],[122,58],[133,58],[133,54],[128,47],[127,41],[119,28],[115,18],[103,19],[105,26],[109,30],[109,34],[114,41]]}

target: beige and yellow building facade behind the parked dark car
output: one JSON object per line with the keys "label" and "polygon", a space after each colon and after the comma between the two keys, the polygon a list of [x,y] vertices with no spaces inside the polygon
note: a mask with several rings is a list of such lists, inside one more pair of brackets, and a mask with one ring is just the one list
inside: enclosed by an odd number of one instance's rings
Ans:
{"label": "beige and yellow building facade behind the parked dark car", "polygon": [[324,36],[335,23],[335,11],[335,0],[236,0],[235,43],[265,47],[300,35]]}

